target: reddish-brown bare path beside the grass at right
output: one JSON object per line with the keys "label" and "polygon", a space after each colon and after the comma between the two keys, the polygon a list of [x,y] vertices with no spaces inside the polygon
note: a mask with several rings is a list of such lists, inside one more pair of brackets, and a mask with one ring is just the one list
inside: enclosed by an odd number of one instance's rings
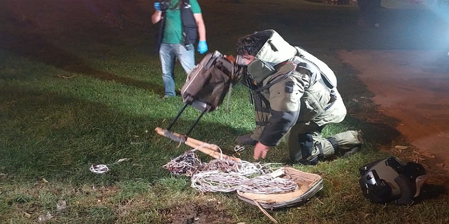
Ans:
{"label": "reddish-brown bare path beside the grass at right", "polygon": [[449,57],[419,50],[342,50],[339,58],[434,170],[449,172]]}

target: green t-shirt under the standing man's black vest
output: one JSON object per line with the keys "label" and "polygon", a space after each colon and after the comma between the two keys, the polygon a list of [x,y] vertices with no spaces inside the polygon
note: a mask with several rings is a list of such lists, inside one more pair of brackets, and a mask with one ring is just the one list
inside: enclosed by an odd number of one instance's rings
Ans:
{"label": "green t-shirt under the standing man's black vest", "polygon": [[[171,7],[165,13],[164,36],[162,43],[179,44],[182,42],[181,1],[171,0]],[[190,0],[190,9],[193,14],[201,13],[201,8],[196,0]]]}

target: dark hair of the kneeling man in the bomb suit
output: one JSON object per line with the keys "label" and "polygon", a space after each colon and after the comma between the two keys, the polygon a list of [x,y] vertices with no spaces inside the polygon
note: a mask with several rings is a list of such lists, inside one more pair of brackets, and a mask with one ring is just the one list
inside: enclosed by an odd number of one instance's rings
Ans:
{"label": "dark hair of the kneeling man in the bomb suit", "polygon": [[254,32],[253,34],[241,37],[237,41],[235,51],[240,55],[248,54],[256,56],[269,37],[270,35],[266,32]]}

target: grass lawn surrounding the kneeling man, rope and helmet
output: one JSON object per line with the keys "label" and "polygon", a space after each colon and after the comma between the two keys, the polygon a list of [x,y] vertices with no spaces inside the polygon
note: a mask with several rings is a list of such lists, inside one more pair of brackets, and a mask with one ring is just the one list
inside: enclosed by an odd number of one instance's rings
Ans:
{"label": "grass lawn surrounding the kneeling man, rope and helmet", "polygon": [[[121,6],[125,29],[108,20]],[[310,202],[272,213],[280,223],[447,223],[445,176],[430,171],[422,201],[413,206],[371,204],[358,185],[358,167],[396,155],[406,144],[394,118],[379,114],[334,49],[435,49],[433,35],[447,23],[427,11],[382,10],[381,29],[359,29],[357,8],[299,0],[200,1],[210,50],[234,53],[238,37],[275,29],[294,45],[333,68],[348,107],[340,124],[324,133],[362,130],[361,152],[309,167],[325,186]],[[188,150],[157,135],[182,107],[163,95],[161,68],[153,50],[157,25],[146,1],[5,1],[0,7],[0,223],[267,223],[269,219],[235,193],[200,193],[186,177],[161,166]],[[425,24],[421,18],[430,18]],[[268,19],[269,18],[269,19]],[[111,25],[112,24],[112,25]],[[112,27],[110,27],[112,26]],[[446,28],[444,28],[446,27]],[[438,45],[440,44],[440,45]],[[203,55],[196,55],[197,61]],[[177,88],[185,79],[176,67]],[[357,99],[357,100],[354,100]],[[174,131],[184,132],[198,111],[188,108]],[[234,139],[253,128],[247,90],[237,85],[229,102],[206,114],[192,137],[231,154]],[[210,157],[199,155],[203,161]],[[120,158],[129,161],[114,163]],[[252,159],[248,147],[241,158]],[[263,162],[287,158],[285,142]],[[110,164],[98,175],[91,164]],[[60,201],[66,207],[58,208]]]}

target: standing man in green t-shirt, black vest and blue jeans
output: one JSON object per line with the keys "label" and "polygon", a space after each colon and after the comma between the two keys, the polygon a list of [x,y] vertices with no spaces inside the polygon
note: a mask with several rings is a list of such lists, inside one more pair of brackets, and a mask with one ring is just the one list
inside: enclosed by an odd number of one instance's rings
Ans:
{"label": "standing man in green t-shirt, black vest and blue jeans", "polygon": [[203,54],[208,50],[206,26],[196,0],[166,0],[155,3],[154,7],[151,21],[160,23],[157,49],[165,87],[162,99],[165,99],[176,96],[173,73],[176,58],[188,73],[195,66],[194,43],[198,37],[198,52]]}

